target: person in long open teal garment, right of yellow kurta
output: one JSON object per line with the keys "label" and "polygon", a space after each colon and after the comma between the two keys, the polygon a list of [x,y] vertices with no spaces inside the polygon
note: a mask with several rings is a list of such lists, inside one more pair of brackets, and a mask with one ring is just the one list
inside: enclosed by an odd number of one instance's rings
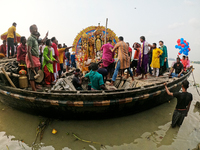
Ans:
{"label": "person in long open teal garment, right of yellow kurta", "polygon": [[164,45],[163,41],[159,41],[160,49],[163,51],[163,54],[160,56],[160,70],[159,75],[162,76],[163,73],[169,68],[168,66],[168,55],[167,47]]}

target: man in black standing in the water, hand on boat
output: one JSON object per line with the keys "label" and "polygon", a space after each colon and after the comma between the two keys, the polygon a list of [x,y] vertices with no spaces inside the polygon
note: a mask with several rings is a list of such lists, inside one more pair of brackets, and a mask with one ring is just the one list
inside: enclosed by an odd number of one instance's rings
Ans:
{"label": "man in black standing in the water, hand on boat", "polygon": [[164,83],[164,85],[167,94],[177,98],[177,105],[172,117],[172,128],[176,127],[176,125],[180,127],[183,123],[184,118],[188,114],[188,111],[190,109],[190,104],[193,99],[192,94],[187,92],[187,89],[189,87],[189,82],[187,80],[183,81],[182,92],[176,92],[176,93],[171,93],[167,88],[167,84]]}

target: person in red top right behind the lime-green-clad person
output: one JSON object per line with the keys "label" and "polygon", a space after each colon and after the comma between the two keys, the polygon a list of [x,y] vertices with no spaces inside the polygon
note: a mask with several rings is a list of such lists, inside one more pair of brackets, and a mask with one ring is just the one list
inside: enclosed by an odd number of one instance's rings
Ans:
{"label": "person in red top right behind the lime-green-clad person", "polygon": [[51,47],[54,49],[54,58],[58,62],[58,63],[53,62],[54,78],[55,78],[55,81],[56,81],[56,79],[58,77],[58,71],[60,70],[59,53],[58,53],[58,48],[57,48],[58,41],[56,40],[55,37],[52,37],[51,41],[52,41],[52,46]]}

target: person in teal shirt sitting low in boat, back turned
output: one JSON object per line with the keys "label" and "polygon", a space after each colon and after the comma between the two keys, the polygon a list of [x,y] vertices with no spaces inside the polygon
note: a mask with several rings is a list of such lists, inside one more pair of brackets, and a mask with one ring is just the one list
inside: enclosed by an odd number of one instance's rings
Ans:
{"label": "person in teal shirt sitting low in boat, back turned", "polygon": [[85,75],[85,78],[89,78],[91,82],[91,90],[107,90],[104,85],[103,76],[97,72],[98,64],[90,64],[91,71]]}

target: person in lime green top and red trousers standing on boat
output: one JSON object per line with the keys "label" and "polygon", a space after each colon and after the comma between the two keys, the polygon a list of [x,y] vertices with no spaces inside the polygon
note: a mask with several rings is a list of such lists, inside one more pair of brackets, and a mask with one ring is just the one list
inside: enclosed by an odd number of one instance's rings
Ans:
{"label": "person in lime green top and red trousers standing on boat", "polygon": [[51,87],[50,85],[53,83],[53,81],[55,80],[54,78],[54,72],[53,72],[53,62],[57,62],[57,60],[53,57],[52,55],[52,43],[51,40],[47,40],[46,41],[46,47],[44,48],[43,51],[43,65],[42,65],[42,69],[44,71],[45,74],[45,78],[44,81],[47,85],[47,87]]}

